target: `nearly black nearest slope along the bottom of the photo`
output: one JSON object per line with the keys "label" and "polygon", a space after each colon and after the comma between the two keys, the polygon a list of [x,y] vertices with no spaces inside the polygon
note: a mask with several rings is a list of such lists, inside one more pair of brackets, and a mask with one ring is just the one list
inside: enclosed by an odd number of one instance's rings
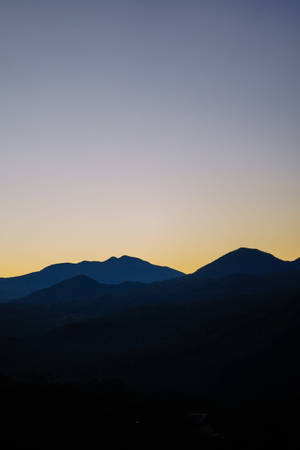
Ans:
{"label": "nearly black nearest slope along the bottom of the photo", "polygon": [[[199,395],[142,393],[118,380],[62,383],[27,374],[0,379],[1,448],[85,448],[195,442],[199,448],[297,448],[299,399],[234,408]],[[111,447],[109,447],[111,448]]]}

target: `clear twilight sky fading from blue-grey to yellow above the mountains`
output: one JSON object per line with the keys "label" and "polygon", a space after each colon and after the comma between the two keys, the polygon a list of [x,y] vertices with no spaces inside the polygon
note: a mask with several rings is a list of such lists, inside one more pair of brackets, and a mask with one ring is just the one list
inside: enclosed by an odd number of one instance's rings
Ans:
{"label": "clear twilight sky fading from blue-grey to yellow above the mountains", "polygon": [[0,276],[300,257],[300,4],[0,0]]}

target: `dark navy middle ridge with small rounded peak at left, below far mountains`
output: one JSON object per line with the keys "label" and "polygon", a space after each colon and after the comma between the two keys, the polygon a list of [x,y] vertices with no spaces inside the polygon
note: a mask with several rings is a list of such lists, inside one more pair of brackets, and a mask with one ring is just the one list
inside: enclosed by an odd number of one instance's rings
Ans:
{"label": "dark navy middle ridge with small rounded peak at left, below far mountains", "polygon": [[68,323],[105,317],[147,305],[204,304],[238,295],[289,295],[299,287],[299,273],[186,276],[150,284],[99,284],[86,276],[65,280],[23,299],[0,305],[0,336],[38,335]]}

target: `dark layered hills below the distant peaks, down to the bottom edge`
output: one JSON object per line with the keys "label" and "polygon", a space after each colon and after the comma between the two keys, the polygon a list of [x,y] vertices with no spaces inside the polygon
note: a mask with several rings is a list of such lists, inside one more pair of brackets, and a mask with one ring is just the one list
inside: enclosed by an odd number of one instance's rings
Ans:
{"label": "dark layered hills below the distant peaks, down to the bottom edge", "polygon": [[18,448],[53,448],[58,436],[93,448],[120,434],[142,446],[295,448],[300,272],[200,278],[76,277],[1,305],[2,438]]}

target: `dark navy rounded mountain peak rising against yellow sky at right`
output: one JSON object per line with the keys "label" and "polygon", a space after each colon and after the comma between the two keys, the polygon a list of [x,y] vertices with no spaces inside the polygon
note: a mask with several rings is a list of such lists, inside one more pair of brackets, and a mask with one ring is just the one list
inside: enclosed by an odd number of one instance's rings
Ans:
{"label": "dark navy rounded mountain peak rising against yellow sky at right", "polygon": [[242,247],[201,267],[193,275],[203,278],[233,274],[264,275],[299,268],[300,258],[295,261],[283,261],[270,253]]}

